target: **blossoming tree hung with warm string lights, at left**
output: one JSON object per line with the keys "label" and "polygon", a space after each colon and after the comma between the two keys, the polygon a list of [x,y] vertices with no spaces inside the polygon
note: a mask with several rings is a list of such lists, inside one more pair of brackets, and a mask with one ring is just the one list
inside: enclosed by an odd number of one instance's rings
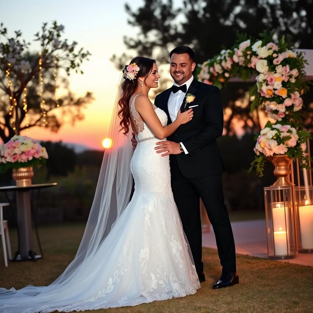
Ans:
{"label": "blossoming tree hung with warm string lights, at left", "polygon": [[[7,28],[0,25],[0,138],[7,142],[12,136],[34,126],[43,126],[58,131],[65,118],[74,123],[83,119],[81,109],[93,100],[87,92],[75,99],[69,90],[68,80],[59,77],[60,69],[67,75],[77,73],[90,53],[83,48],[75,52],[77,43],[61,39],[64,26],[56,21],[50,28],[44,23],[35,34],[40,43],[40,52],[32,53],[30,43],[21,39],[21,31],[9,38]],[[58,97],[60,86],[66,95]]]}

